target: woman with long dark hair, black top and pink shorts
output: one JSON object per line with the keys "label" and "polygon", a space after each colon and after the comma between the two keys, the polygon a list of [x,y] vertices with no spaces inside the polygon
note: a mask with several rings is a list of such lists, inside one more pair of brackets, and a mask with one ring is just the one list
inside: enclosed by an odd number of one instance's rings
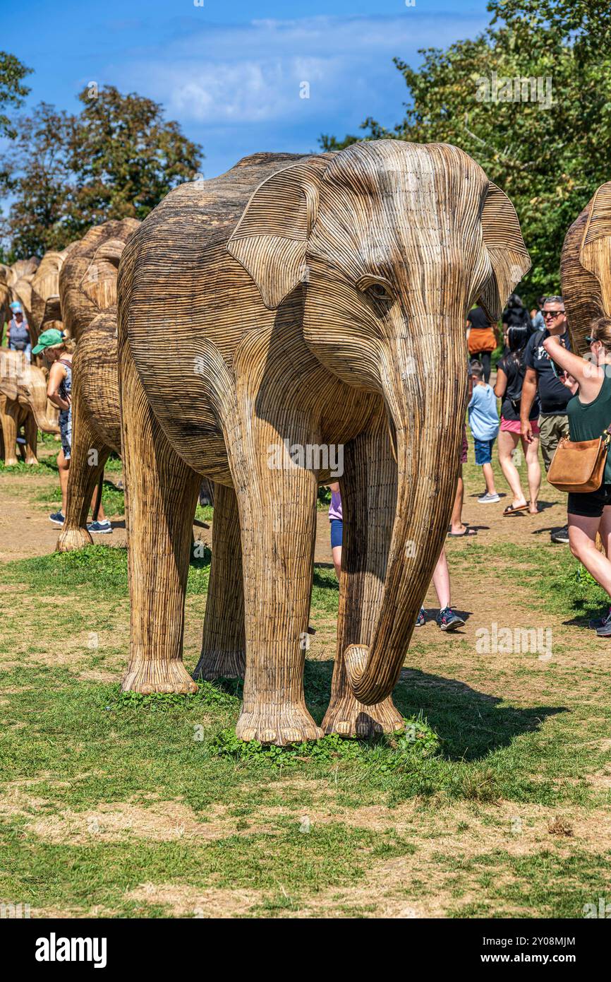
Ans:
{"label": "woman with long dark hair, black top and pink shorts", "polygon": [[[507,331],[507,347],[496,367],[496,385],[494,395],[502,400],[501,425],[498,433],[498,462],[505,480],[511,488],[513,499],[504,510],[503,515],[514,515],[516,512],[528,511],[531,515],[538,512],[538,492],[541,486],[541,468],[538,463],[538,400],[535,399],[531,409],[530,420],[533,427],[533,441],[527,443],[520,434],[520,400],[526,365],[524,362],[525,349],[531,337],[531,329],[526,324],[520,327],[510,327]],[[524,495],[520,474],[513,460],[518,443],[526,460],[527,478],[529,482],[529,501]]]}

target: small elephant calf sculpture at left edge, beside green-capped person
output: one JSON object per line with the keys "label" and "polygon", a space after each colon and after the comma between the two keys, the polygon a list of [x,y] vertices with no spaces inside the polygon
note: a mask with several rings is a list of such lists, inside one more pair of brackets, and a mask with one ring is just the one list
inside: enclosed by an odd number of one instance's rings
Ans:
{"label": "small elephant calf sculpture at left edge, beside green-capped person", "polygon": [[[23,352],[0,351],[0,430],[4,463],[17,464],[16,445],[24,427],[25,464],[37,464],[38,429],[59,433],[57,417],[49,413],[47,381],[41,368],[30,364]],[[20,447],[21,450],[21,447]]]}

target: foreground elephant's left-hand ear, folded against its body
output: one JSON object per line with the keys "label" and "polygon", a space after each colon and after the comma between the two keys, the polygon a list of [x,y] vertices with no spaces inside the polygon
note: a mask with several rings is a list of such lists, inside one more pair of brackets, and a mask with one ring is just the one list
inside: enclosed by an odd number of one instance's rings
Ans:
{"label": "foreground elephant's left-hand ear, folded against its body", "polygon": [[307,157],[263,181],[229,239],[229,252],[252,276],[270,310],[307,278],[306,248],[328,156]]}

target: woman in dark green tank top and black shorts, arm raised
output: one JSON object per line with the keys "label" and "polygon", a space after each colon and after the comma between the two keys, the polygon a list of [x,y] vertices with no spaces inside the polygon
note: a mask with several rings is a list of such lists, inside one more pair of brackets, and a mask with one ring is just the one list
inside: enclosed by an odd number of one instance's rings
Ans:
{"label": "woman in dark green tank top and black shorts, arm raised", "polygon": [[[552,360],[567,372],[575,395],[567,406],[571,440],[595,440],[611,426],[611,319],[601,317],[591,326],[589,357],[562,348],[558,338],[549,337],[543,347]],[[602,484],[589,494],[569,495],[569,545],[588,573],[611,598],[611,455],[607,456]],[[600,532],[605,555],[596,549]],[[611,635],[611,600],[600,618],[589,622],[601,637]]]}

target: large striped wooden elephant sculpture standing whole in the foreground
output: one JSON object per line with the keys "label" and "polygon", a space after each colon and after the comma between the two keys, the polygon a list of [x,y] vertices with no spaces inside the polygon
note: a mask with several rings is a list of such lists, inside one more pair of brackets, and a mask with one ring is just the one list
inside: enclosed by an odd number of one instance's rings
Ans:
{"label": "large striped wooden elephant sculpture standing whole in the foreground", "polygon": [[[206,606],[209,660],[245,637],[237,736],[402,727],[391,692],[456,488],[466,313],[479,298],[498,319],[529,267],[509,199],[448,144],[256,154],[164,198],[129,240],[118,283],[124,689],[195,689],[181,648],[204,475],[221,490],[213,565],[225,571]],[[339,448],[345,543],[319,727],[304,638],[317,488]]]}

